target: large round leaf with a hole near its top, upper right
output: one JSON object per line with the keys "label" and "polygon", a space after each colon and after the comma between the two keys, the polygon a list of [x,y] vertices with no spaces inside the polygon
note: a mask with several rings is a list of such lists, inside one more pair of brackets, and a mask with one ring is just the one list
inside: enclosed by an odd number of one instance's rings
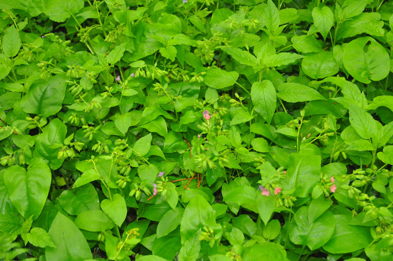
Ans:
{"label": "large round leaf with a hole near its top, upper right", "polygon": [[344,49],[342,62],[348,73],[361,83],[380,81],[389,74],[389,54],[372,37],[349,42]]}

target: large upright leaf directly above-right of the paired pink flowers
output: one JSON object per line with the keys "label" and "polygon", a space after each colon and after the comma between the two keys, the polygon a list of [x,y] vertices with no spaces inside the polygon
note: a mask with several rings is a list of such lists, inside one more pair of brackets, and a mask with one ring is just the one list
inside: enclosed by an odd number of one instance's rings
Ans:
{"label": "large upright leaf directly above-right of the paired pink flowers", "polygon": [[288,166],[283,188],[295,189],[293,195],[307,197],[320,178],[321,157],[292,153],[289,156]]}

